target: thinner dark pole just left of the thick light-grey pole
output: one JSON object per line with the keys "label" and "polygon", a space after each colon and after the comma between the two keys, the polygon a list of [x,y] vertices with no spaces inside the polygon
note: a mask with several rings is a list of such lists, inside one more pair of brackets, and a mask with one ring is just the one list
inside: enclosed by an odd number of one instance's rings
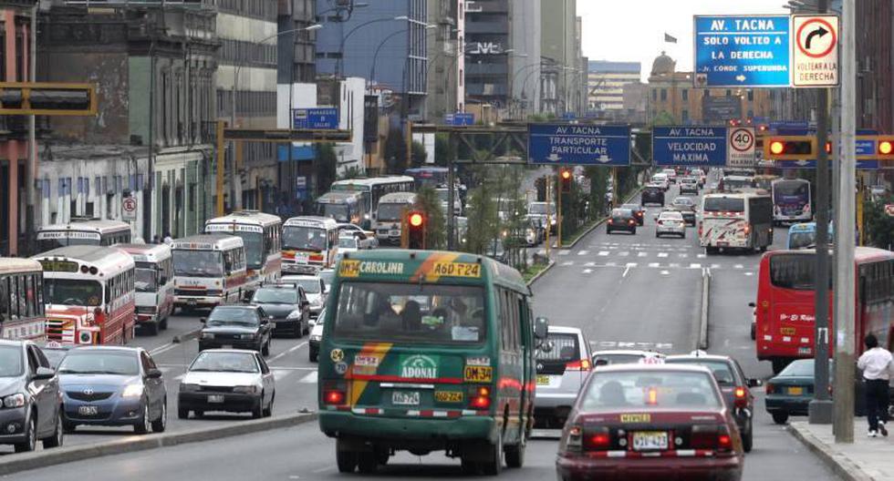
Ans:
{"label": "thinner dark pole just left of the thick light-grey pole", "polygon": [[[819,0],[818,11],[825,14],[828,0]],[[833,405],[829,398],[829,161],[826,141],[829,129],[829,89],[816,89],[816,282],[814,297],[814,398],[807,408],[812,425],[832,423]],[[837,393],[836,393],[837,395]]]}

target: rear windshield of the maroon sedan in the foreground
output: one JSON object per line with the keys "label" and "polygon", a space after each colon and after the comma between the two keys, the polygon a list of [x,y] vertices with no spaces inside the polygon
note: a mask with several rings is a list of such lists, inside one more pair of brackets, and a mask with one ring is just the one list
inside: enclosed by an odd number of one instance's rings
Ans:
{"label": "rear windshield of the maroon sedan in the foreground", "polygon": [[672,371],[595,371],[582,396],[582,411],[619,409],[715,409],[722,404],[711,377]]}

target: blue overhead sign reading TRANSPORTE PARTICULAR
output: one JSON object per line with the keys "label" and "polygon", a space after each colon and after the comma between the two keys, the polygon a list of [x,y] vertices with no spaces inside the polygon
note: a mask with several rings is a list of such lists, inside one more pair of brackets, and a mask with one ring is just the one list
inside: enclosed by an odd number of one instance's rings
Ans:
{"label": "blue overhead sign reading TRANSPORTE PARTICULAR", "polygon": [[629,126],[528,125],[528,163],[630,165]]}

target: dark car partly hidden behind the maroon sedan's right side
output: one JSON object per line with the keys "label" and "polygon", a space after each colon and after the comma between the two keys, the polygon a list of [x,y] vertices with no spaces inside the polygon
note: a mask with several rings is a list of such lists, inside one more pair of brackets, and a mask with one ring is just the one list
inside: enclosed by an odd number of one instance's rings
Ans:
{"label": "dark car partly hidden behind the maroon sedan's right side", "polygon": [[761,385],[756,379],[748,379],[739,362],[729,356],[712,355],[696,351],[688,355],[671,355],[664,359],[667,364],[696,364],[707,367],[714,374],[723,393],[723,401],[733,412],[736,425],[742,434],[745,452],[754,445],[754,395],[749,388]]}

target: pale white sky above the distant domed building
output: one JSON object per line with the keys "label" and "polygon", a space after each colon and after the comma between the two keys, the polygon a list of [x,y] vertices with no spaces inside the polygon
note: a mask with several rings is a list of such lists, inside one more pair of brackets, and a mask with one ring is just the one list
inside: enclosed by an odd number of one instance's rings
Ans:
{"label": "pale white sky above the distant domed building", "polygon": [[[543,0],[549,2],[550,0]],[[787,14],[785,0],[577,0],[584,56],[640,62],[643,82],[666,50],[677,70],[692,71],[692,15]],[[664,34],[677,38],[664,42]]]}

